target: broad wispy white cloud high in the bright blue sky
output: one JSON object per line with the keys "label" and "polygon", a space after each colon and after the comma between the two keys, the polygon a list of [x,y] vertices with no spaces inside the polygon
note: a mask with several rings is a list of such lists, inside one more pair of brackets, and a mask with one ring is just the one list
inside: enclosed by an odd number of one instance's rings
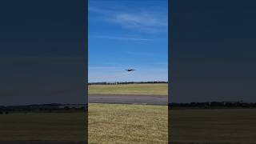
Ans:
{"label": "broad wispy white cloud high in the bright blue sky", "polygon": [[146,10],[113,10],[94,6],[89,6],[88,10],[89,12],[102,15],[102,20],[118,24],[126,29],[154,34],[167,31],[168,19],[165,13]]}

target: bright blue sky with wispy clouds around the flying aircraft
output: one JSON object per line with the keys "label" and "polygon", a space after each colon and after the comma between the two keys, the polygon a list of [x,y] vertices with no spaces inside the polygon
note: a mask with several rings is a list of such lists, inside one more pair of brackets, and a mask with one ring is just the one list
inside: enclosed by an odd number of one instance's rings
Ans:
{"label": "bright blue sky with wispy clouds around the flying aircraft", "polygon": [[88,10],[89,82],[167,81],[167,0],[89,0]]}

